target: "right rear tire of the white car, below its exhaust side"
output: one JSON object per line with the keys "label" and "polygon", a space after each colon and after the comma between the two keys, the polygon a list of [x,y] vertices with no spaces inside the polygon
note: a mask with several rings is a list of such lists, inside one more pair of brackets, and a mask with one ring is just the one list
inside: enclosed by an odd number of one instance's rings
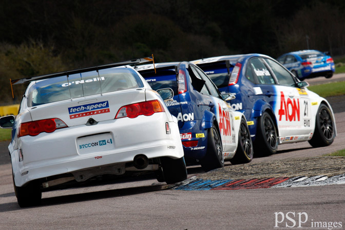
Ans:
{"label": "right rear tire of the white car, below its exhaust side", "polygon": [[161,164],[163,177],[167,184],[174,184],[187,179],[187,168],[184,157],[178,159],[162,157]]}

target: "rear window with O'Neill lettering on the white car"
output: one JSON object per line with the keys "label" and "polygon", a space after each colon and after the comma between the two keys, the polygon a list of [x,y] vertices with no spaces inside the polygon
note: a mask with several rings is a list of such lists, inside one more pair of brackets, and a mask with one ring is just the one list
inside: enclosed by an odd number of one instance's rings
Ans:
{"label": "rear window with O'Neill lettering on the white car", "polygon": [[59,76],[37,81],[28,89],[28,106],[42,105],[71,98],[86,97],[131,88],[144,87],[137,72],[130,68],[110,68]]}

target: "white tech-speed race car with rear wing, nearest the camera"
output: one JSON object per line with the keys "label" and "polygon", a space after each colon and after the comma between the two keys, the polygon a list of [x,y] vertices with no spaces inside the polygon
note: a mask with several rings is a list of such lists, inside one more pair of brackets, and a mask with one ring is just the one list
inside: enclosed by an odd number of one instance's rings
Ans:
{"label": "white tech-speed race car with rear wing, nearest the camera", "polygon": [[123,66],[143,61],[12,81],[31,82],[16,118],[0,118],[2,128],[12,128],[8,148],[21,207],[39,204],[42,191],[95,176],[155,171],[160,182],[187,178],[177,119],[135,69]]}

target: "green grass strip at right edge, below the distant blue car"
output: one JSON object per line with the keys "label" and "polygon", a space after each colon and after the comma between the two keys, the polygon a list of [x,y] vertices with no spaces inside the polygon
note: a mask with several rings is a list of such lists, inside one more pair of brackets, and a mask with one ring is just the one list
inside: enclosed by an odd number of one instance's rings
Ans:
{"label": "green grass strip at right edge, below the distant blue car", "polygon": [[345,94],[345,82],[334,82],[323,85],[309,86],[308,89],[319,94],[322,98]]}

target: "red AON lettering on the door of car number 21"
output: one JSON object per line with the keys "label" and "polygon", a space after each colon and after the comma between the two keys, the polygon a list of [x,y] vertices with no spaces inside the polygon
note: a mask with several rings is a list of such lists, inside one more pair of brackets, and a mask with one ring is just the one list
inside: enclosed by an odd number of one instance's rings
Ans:
{"label": "red AON lettering on the door of car number 21", "polygon": [[279,114],[279,121],[285,117],[285,121],[299,121],[299,99],[291,100],[287,98],[285,100],[284,93],[280,91],[280,109],[278,111]]}

